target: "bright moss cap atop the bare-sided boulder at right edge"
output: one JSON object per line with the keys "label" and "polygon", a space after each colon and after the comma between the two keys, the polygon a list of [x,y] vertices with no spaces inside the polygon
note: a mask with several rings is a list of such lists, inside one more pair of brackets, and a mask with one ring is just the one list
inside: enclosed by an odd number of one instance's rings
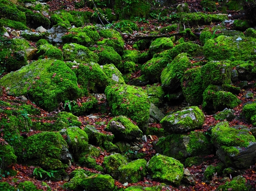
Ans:
{"label": "bright moss cap atop the bare-sided boulder at right edge", "polygon": [[228,122],[219,122],[211,129],[212,140],[222,146],[247,147],[250,142],[255,142],[253,135],[246,129],[235,129]]}

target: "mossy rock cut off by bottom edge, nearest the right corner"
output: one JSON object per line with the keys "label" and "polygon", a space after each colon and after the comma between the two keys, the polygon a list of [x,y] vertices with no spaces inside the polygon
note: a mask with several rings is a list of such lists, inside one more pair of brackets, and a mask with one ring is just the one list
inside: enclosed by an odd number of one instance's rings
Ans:
{"label": "mossy rock cut off by bottom edge, nearest the right corner", "polygon": [[248,191],[246,180],[242,176],[234,177],[231,181],[227,181],[224,185],[220,185],[216,191]]}

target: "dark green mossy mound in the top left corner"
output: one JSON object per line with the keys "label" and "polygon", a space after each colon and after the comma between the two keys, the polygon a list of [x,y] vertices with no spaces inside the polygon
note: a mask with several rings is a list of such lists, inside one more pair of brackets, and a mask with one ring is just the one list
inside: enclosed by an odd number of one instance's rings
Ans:
{"label": "dark green mossy mound in the top left corner", "polygon": [[26,16],[25,13],[22,11],[19,11],[15,4],[12,3],[10,0],[1,0],[0,1],[0,16],[2,18],[14,20],[17,22],[22,22],[23,24],[26,24]]}

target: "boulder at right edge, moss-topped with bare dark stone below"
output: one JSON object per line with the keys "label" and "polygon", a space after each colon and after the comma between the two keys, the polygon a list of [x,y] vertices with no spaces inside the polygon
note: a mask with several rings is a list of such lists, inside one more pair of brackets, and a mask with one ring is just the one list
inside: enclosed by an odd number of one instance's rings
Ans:
{"label": "boulder at right edge, moss-topped with bare dark stone below", "polygon": [[255,163],[256,140],[246,126],[219,122],[211,133],[216,154],[227,166],[244,169]]}

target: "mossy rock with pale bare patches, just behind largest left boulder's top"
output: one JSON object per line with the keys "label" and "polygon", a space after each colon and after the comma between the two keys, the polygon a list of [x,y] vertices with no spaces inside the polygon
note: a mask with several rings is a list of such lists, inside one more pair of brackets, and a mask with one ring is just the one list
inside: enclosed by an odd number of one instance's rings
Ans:
{"label": "mossy rock with pale bare patches, just behind largest left boulder's top", "polygon": [[83,45],[76,43],[65,44],[63,46],[63,56],[65,61],[76,61],[79,63],[98,62],[98,55],[90,51]]}

